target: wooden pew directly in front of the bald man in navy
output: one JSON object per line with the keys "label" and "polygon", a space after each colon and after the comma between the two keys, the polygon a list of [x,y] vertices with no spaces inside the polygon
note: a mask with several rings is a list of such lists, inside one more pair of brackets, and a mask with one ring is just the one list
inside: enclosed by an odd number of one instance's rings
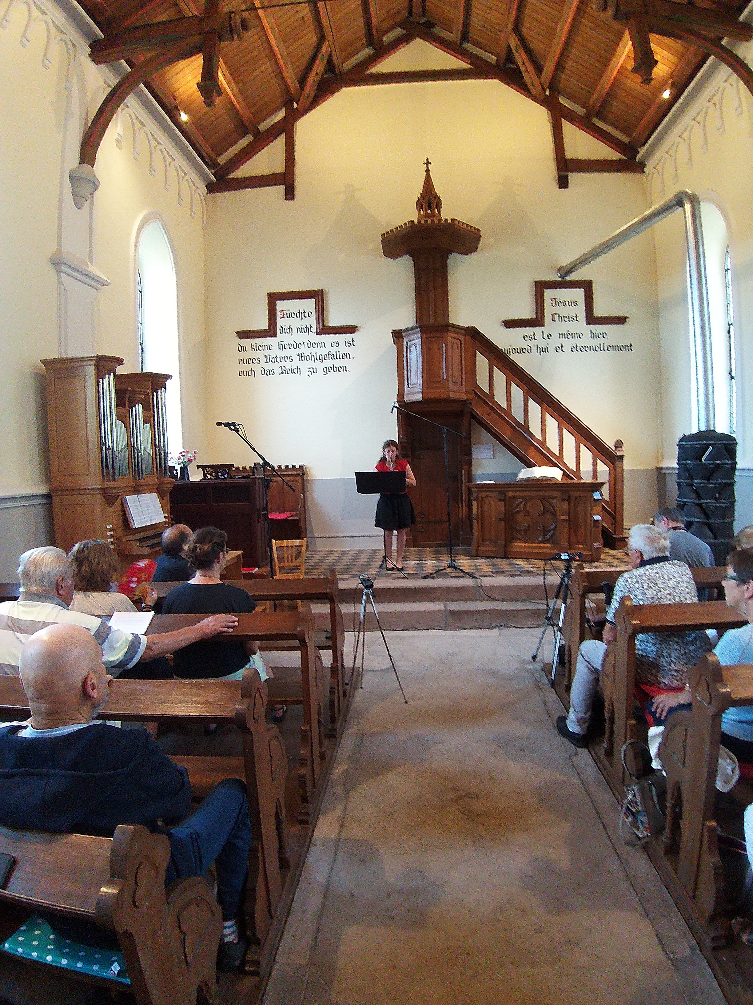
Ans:
{"label": "wooden pew directly in front of the bald man in navy", "polygon": [[[279,730],[266,722],[267,686],[256,669],[243,680],[118,680],[100,719],[165,722],[174,719],[235,726],[242,758],[174,757],[189,772],[194,796],[225,778],[245,780],[254,842],[246,884],[246,927],[251,942],[246,969],[271,963],[268,937],[276,921],[284,870],[290,866],[285,821],[287,756]],[[26,719],[29,705],[19,677],[0,676],[0,715]],[[214,961],[213,961],[214,962]]]}

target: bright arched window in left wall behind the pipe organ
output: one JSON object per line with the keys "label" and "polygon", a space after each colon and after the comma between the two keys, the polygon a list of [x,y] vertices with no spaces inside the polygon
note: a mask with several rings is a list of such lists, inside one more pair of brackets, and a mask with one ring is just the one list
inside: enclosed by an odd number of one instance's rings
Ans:
{"label": "bright arched window in left wall behind the pipe organ", "polygon": [[168,381],[170,452],[183,448],[181,377],[178,351],[178,284],[168,236],[159,220],[150,220],[139,235],[137,319],[142,370],[172,374]]}

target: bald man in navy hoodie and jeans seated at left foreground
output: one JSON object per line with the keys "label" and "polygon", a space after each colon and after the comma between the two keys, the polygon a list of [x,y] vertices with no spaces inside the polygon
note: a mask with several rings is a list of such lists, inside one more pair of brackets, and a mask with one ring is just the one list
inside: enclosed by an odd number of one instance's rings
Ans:
{"label": "bald man in navy hoodie and jeans seated at left foreground", "polygon": [[218,966],[237,970],[248,947],[238,934],[251,846],[243,783],[221,782],[182,819],[191,810],[186,770],[145,730],[94,719],[112,677],[85,628],[55,624],[36,632],[21,651],[19,672],[31,719],[0,728],[0,825],[111,837],[118,824],[144,824],[170,840],[166,883],[204,875],[216,862],[225,923]]}

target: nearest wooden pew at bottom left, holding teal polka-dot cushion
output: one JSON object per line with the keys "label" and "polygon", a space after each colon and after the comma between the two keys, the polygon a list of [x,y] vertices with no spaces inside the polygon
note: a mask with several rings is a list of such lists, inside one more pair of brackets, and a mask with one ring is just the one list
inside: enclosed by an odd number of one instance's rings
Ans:
{"label": "nearest wooden pew at bottom left, holding teal polka-dot cushion", "polygon": [[[0,828],[0,851],[15,859],[0,889],[0,916],[13,909],[21,918],[19,909],[27,917],[72,916],[114,932],[139,1005],[218,1002],[220,906],[202,878],[182,879],[166,894],[170,842],[164,834],[133,826],[117,827],[112,838]],[[78,977],[67,969],[55,972]],[[80,978],[123,990],[104,975],[101,981]]]}

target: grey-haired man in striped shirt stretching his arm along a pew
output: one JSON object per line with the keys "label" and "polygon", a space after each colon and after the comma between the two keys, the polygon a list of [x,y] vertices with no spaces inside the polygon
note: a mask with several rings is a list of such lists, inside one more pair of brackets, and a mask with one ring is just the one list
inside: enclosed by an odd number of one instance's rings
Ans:
{"label": "grey-haired man in striped shirt stretching his arm along a pew", "polygon": [[[102,662],[113,674],[137,677],[172,676],[170,665],[158,657],[186,645],[226,635],[238,624],[233,614],[215,614],[189,628],[154,635],[137,635],[110,628],[103,618],[70,610],[73,570],[59,548],[32,548],[18,563],[21,595],[0,604],[0,674],[18,674],[18,660],[26,641],[51,624],[85,628],[102,650]],[[138,669],[136,664],[141,663]],[[148,665],[151,663],[151,666]]]}

